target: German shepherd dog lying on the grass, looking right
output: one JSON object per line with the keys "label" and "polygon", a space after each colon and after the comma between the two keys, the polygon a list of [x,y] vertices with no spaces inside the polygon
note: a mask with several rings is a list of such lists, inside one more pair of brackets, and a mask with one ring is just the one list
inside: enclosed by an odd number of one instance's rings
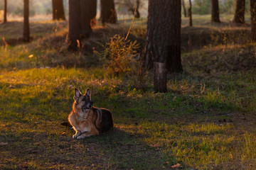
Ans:
{"label": "German shepherd dog lying on the grass, looking right", "polygon": [[74,139],[83,139],[113,127],[112,114],[105,108],[95,108],[90,97],[90,89],[82,95],[75,89],[73,111],[68,116],[69,123],[75,130]]}

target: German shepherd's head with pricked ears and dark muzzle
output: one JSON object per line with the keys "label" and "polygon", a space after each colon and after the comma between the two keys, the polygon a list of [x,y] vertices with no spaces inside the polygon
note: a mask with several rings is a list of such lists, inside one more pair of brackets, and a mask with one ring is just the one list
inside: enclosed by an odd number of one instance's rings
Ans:
{"label": "German shepherd's head with pricked ears and dark muzzle", "polygon": [[75,89],[74,99],[75,106],[77,108],[81,108],[82,111],[92,108],[93,101],[91,101],[89,88],[86,90],[84,95],[82,95],[78,89]]}

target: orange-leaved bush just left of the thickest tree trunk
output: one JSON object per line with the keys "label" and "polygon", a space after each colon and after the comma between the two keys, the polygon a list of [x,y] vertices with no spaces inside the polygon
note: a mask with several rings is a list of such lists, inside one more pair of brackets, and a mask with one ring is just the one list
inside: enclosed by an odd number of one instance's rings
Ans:
{"label": "orange-leaved bush just left of the thickest tree trunk", "polygon": [[127,77],[135,89],[146,89],[147,73],[139,60],[139,43],[114,35],[101,53],[101,62],[108,76]]}

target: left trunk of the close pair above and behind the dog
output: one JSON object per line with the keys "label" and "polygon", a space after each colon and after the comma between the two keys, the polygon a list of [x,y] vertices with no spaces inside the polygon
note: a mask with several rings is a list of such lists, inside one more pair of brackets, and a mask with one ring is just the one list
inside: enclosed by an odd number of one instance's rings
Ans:
{"label": "left trunk of the close pair above and behind the dog", "polygon": [[80,0],[69,0],[68,50],[78,50],[80,44]]}

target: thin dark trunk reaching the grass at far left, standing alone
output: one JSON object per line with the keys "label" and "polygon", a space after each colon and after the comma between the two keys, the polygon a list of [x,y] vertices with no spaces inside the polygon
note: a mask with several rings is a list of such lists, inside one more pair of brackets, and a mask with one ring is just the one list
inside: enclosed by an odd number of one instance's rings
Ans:
{"label": "thin dark trunk reaching the grass at far left, standing alone", "polygon": [[24,0],[24,22],[23,22],[23,41],[29,42],[29,0]]}

